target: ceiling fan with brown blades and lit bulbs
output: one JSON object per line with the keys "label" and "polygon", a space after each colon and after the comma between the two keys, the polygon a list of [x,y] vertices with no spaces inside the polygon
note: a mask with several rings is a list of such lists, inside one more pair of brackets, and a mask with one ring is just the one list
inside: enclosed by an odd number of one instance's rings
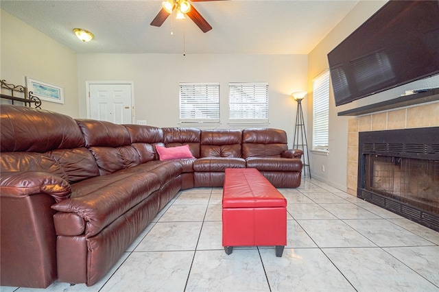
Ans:
{"label": "ceiling fan with brown blades and lit bulbs", "polygon": [[[192,1],[217,1],[217,0],[192,0]],[[161,26],[167,19],[167,16],[174,10],[177,12],[177,19],[184,19],[185,15],[200,27],[202,32],[209,32],[212,29],[211,25],[201,16],[200,12],[193,7],[186,0],[165,0],[162,2],[162,9],[158,12],[156,17],[152,20],[151,25]]]}

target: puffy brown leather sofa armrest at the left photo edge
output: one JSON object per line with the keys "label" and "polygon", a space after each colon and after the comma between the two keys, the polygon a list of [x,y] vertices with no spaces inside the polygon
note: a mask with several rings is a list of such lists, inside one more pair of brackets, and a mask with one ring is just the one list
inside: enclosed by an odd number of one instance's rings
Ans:
{"label": "puffy brown leather sofa armrest at the left photo edge", "polygon": [[60,202],[69,197],[71,186],[59,176],[43,171],[1,173],[1,197],[26,197],[39,193],[46,193]]}

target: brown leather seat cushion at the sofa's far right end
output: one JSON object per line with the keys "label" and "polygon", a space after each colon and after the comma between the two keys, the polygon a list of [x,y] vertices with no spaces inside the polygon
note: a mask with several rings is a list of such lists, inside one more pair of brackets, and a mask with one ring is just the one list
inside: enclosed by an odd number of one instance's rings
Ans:
{"label": "brown leather seat cushion at the sofa's far right end", "polygon": [[246,159],[247,167],[259,171],[302,171],[302,160],[298,158],[259,158]]}

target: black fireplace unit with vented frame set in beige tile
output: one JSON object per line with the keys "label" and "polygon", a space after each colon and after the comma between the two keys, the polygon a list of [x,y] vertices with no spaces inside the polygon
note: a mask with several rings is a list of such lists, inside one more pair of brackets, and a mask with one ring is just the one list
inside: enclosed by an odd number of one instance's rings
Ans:
{"label": "black fireplace unit with vented frame set in beige tile", "polygon": [[439,231],[439,127],[360,132],[357,197]]}

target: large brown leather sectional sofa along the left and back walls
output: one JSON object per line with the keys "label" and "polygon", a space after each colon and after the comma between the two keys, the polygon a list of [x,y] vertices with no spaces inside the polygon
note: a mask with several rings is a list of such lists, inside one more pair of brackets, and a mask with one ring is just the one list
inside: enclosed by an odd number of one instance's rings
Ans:
{"label": "large brown leather sectional sofa along the left and back walls", "polygon": [[[116,125],[1,105],[1,285],[95,284],[157,213],[187,188],[222,186],[254,167],[300,185],[302,151],[282,130]],[[155,146],[195,158],[158,160]]]}

